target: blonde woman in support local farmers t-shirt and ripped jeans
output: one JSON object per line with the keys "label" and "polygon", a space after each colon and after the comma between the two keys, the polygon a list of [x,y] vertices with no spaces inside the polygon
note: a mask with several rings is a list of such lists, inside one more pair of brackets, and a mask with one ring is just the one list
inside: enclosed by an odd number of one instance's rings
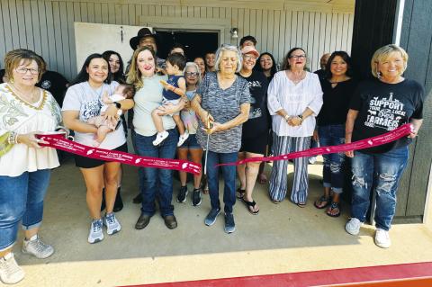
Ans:
{"label": "blonde woman in support local farmers t-shirt and ripped jeans", "polygon": [[402,77],[408,55],[396,45],[375,51],[371,61],[376,80],[358,86],[347,115],[346,142],[367,139],[394,130],[410,122],[413,130],[407,138],[375,148],[347,152],[352,159],[352,218],[345,229],[357,235],[369,208],[369,195],[376,193],[375,244],[391,246],[389,229],[396,209],[396,192],[407,166],[411,140],[417,136],[423,118],[423,87]]}

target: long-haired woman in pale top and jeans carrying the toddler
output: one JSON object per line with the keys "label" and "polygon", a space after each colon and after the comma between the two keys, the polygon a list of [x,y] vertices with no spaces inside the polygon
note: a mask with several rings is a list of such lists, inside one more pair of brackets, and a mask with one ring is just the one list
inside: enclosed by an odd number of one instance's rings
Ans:
{"label": "long-haired woman in pale top and jeans carrying the toddler", "polygon": [[[173,159],[179,134],[170,114],[181,111],[184,108],[184,101],[161,106],[164,89],[162,83],[165,83],[167,77],[157,75],[156,59],[155,52],[147,47],[136,49],[132,56],[127,79],[127,82],[134,85],[137,91],[134,96],[132,138],[135,141],[136,152],[139,156]],[[160,111],[158,115],[161,116],[163,127],[168,133],[166,139],[158,145],[153,145],[153,141],[157,138],[157,128],[152,121],[151,113],[155,109]],[[139,188],[142,202],[141,214],[135,224],[135,229],[144,229],[148,226],[150,218],[156,211],[156,199],[166,227],[168,229],[177,227],[174,206],[171,204],[173,197],[172,176],[172,171],[168,169],[139,168]]]}

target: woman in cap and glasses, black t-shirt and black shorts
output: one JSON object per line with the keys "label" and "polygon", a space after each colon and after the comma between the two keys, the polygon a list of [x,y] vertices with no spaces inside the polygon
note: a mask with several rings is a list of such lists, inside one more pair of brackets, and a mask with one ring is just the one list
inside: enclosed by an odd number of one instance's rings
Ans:
{"label": "woman in cap and glasses, black t-shirt and black shorts", "polygon": [[[252,103],[250,106],[249,118],[243,124],[241,134],[241,148],[238,159],[250,157],[264,157],[268,142],[268,112],[266,93],[268,82],[263,73],[254,71],[259,55],[254,46],[245,46],[241,49],[243,65],[238,76],[247,80]],[[252,199],[252,192],[257,181],[259,162],[250,162],[237,166],[240,187],[237,190],[237,198],[245,202],[247,211],[257,214],[259,207]]]}

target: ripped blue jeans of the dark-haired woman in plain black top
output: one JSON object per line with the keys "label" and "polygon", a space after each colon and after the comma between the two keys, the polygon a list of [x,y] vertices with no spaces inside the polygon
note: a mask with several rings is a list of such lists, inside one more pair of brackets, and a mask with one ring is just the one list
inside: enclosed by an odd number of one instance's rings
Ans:
{"label": "ripped blue jeans of the dark-haired woman in plain black top", "polygon": [[[318,128],[320,136],[320,146],[338,146],[345,143],[345,125],[335,124],[320,126]],[[342,164],[345,160],[344,153],[322,155],[324,166],[322,167],[322,177],[324,187],[331,187],[334,193],[342,193],[344,186],[344,174]]]}

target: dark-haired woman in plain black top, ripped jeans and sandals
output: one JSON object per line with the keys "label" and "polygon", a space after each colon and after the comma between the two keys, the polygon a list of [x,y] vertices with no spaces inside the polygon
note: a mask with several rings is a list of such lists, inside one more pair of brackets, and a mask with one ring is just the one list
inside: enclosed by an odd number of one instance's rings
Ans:
{"label": "dark-haired woman in plain black top, ripped jeans and sandals", "polygon": [[[325,71],[329,71],[320,79],[322,92],[322,107],[317,117],[317,128],[314,139],[320,146],[337,146],[345,142],[345,121],[349,108],[349,101],[356,89],[357,81],[351,78],[351,58],[345,51],[336,51],[327,61]],[[340,215],[339,195],[342,193],[344,174],[342,163],[344,153],[334,153],[322,156],[324,194],[315,202],[315,207],[324,209],[329,206],[327,215]],[[330,197],[330,192],[333,195]]]}

